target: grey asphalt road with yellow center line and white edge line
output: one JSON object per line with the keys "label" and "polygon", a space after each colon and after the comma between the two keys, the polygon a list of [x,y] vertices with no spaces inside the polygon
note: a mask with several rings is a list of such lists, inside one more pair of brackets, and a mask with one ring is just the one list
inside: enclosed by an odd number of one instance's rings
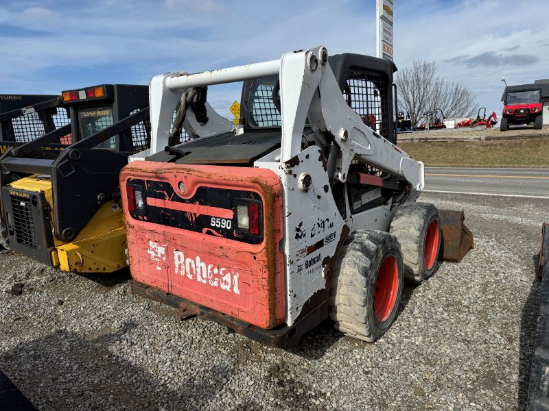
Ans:
{"label": "grey asphalt road with yellow center line and white edge line", "polygon": [[425,167],[424,191],[549,199],[549,169]]}

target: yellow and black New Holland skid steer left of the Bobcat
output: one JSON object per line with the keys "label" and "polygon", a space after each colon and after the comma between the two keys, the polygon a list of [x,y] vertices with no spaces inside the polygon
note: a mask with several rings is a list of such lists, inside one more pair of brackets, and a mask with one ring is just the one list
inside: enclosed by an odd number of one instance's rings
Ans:
{"label": "yellow and black New Holland skid steer left of the Bobcat", "polygon": [[[6,115],[25,123],[31,109]],[[121,269],[119,172],[128,155],[148,147],[148,87],[67,90],[48,110],[66,111],[66,123],[35,128],[40,136],[0,158],[3,236],[14,251],[62,271]]]}

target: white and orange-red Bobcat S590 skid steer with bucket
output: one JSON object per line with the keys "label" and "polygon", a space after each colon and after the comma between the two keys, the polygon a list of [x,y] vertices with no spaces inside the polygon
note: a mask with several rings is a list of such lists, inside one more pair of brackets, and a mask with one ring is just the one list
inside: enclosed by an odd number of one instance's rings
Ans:
{"label": "white and orange-red Bobcat S590 skid steer with bucket", "polygon": [[[328,317],[360,340],[384,334],[445,232],[447,258],[472,245],[461,212],[416,203],[423,164],[393,144],[393,71],[317,47],[153,77],[157,152],[120,176],[134,292],[278,347]],[[159,151],[179,101],[242,80],[237,129],[207,121],[207,136]]]}

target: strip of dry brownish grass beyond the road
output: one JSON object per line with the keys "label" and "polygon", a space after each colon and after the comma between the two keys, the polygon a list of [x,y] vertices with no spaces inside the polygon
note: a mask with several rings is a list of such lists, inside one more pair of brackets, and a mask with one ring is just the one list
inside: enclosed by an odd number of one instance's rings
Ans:
{"label": "strip of dry brownish grass beyond the road", "polygon": [[482,142],[403,142],[425,166],[549,167],[549,137]]}

